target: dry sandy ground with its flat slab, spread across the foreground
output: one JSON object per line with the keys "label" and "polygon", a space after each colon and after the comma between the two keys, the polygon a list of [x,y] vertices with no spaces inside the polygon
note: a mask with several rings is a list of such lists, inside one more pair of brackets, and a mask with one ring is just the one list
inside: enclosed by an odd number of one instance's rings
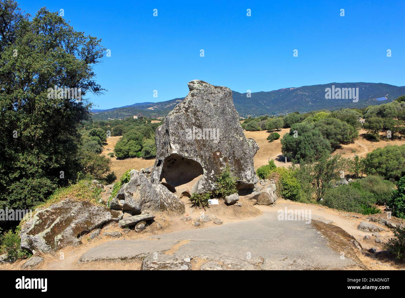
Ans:
{"label": "dry sandy ground with its flat slab, spread across the foreground", "polygon": [[[83,244],[78,247],[66,247],[54,254],[43,255],[45,261],[36,269],[139,270],[148,249],[168,255],[187,255],[194,252],[193,270],[198,270],[209,259],[215,259],[215,262],[222,265],[231,262],[232,268],[235,268],[234,264],[247,266],[243,267],[245,269],[405,268],[404,264],[392,259],[367,253],[371,247],[377,251],[384,250],[384,245],[375,243],[375,234],[386,241],[392,237],[392,233],[359,231],[357,225],[361,221],[367,221],[367,216],[362,214],[282,199],[272,207],[253,205],[252,200],[241,197],[242,207],[226,206],[220,202],[207,210],[194,209],[189,202],[184,202],[185,214],[157,213],[155,221],[140,233],[134,230],[124,232],[117,223],[107,225],[94,240],[83,236]],[[279,210],[285,208],[311,210],[311,223],[307,225],[303,221],[279,221]],[[194,227],[194,219],[203,213],[214,215],[224,223],[217,225],[209,221],[200,227]],[[122,236],[103,236],[103,232],[107,231],[121,231]],[[369,235],[370,239],[364,240],[365,235]],[[360,243],[362,251],[356,249],[353,240]],[[165,246],[164,243],[168,244]],[[105,250],[111,255],[103,253]],[[252,252],[253,263],[246,262],[246,251]],[[95,255],[100,255],[100,259],[79,262],[81,257],[91,259]],[[18,270],[24,262],[21,260],[14,264],[2,264],[0,270]]]}

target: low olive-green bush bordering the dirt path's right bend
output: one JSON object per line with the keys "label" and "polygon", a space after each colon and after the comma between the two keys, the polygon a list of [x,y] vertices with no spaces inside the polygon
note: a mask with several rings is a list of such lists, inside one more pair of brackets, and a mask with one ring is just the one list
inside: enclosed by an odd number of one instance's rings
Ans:
{"label": "low olive-green bush bordering the dirt path's right bend", "polygon": [[362,192],[351,185],[340,185],[326,190],[321,204],[338,210],[362,213],[366,207],[375,204],[375,198],[371,193]]}

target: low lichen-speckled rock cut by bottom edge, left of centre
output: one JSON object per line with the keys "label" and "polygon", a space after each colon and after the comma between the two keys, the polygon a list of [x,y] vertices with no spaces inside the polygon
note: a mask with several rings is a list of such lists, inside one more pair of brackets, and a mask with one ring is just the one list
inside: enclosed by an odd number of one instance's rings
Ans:
{"label": "low lichen-speckled rock cut by bottom edge, left of centre", "polygon": [[141,270],[191,270],[191,263],[173,255],[151,253],[143,259]]}

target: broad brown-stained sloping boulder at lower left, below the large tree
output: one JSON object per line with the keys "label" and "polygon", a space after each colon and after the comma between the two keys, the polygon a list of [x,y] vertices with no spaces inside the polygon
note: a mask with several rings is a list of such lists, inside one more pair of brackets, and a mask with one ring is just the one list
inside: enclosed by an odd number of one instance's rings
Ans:
{"label": "broad brown-stained sloping boulder at lower left, below the large tree", "polygon": [[80,236],[122,219],[122,212],[86,201],[64,199],[38,208],[21,223],[21,249],[49,253],[68,245],[81,244]]}

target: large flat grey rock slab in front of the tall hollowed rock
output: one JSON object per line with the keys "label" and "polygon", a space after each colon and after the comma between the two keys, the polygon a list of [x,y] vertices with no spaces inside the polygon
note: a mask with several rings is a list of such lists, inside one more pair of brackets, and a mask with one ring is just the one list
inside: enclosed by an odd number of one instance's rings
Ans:
{"label": "large flat grey rock slab in front of the tall hollowed rock", "polygon": [[80,262],[144,258],[167,251],[181,241],[183,244],[172,258],[198,257],[222,264],[220,267],[226,270],[319,270],[362,265],[348,256],[341,259],[340,252],[331,249],[328,240],[312,225],[280,221],[275,212],[265,212],[251,221],[107,242],[87,251]]}

